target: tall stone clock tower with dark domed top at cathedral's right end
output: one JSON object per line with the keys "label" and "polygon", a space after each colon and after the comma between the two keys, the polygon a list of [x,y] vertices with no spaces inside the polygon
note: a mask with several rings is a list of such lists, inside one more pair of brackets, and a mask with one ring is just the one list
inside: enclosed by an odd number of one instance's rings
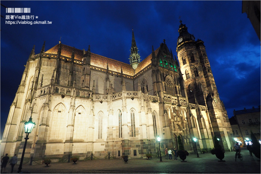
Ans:
{"label": "tall stone clock tower with dark domed top at cathedral's right end", "polygon": [[[213,128],[212,134],[222,139],[220,144],[223,144],[225,149],[230,148],[232,130],[224,104],[219,98],[204,42],[200,39],[195,41],[195,37],[187,29],[186,25],[180,21],[177,56],[189,103],[206,106],[206,114],[209,115]],[[197,117],[200,117],[200,115],[197,115]],[[201,125],[200,122],[199,125]]]}

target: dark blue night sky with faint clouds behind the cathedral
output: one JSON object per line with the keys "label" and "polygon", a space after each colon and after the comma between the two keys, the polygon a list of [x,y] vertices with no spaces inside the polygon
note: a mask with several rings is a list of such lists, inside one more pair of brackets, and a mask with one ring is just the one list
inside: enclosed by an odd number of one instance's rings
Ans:
{"label": "dark blue night sky with faint clouds behind the cathedral", "polygon": [[[143,60],[163,39],[177,55],[182,23],[201,39],[229,117],[233,110],[260,105],[260,40],[242,1],[1,1],[1,138],[22,73],[35,45],[38,54],[61,43],[129,63],[132,29]],[[34,15],[52,24],[7,24],[6,15]]]}

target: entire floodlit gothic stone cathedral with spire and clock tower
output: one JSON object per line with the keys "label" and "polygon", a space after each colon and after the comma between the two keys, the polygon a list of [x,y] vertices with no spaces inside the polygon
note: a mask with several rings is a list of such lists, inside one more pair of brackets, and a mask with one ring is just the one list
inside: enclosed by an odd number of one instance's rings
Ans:
{"label": "entire floodlit gothic stone cathedral with spire and clock tower", "polygon": [[[232,130],[219,98],[204,42],[180,21],[177,58],[165,40],[144,60],[132,32],[130,64],[59,44],[32,49],[10,107],[1,155],[21,157],[24,123],[36,123],[25,157],[43,159],[93,153],[143,157],[160,148],[213,148],[213,137],[228,151]],[[197,144],[192,142],[197,138]]]}

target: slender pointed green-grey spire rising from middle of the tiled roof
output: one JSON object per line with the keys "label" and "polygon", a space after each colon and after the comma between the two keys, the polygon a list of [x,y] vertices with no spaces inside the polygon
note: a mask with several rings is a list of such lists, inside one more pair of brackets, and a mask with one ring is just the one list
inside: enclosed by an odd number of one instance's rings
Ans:
{"label": "slender pointed green-grey spire rising from middle of the tiled roof", "polygon": [[132,41],[131,41],[131,55],[129,59],[132,68],[136,69],[138,64],[140,63],[140,56],[138,53],[138,48],[136,45],[133,29],[132,29]]}

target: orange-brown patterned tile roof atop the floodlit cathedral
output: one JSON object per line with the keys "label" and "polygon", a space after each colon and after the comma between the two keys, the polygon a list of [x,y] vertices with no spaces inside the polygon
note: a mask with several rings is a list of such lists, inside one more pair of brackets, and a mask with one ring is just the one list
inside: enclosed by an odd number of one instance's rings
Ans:
{"label": "orange-brown patterned tile roof atop the floodlit cathedral", "polygon": [[[45,53],[57,54],[58,49],[59,49],[59,44],[57,44],[56,46],[47,50]],[[65,56],[65,57],[71,57],[73,49],[74,49],[74,52],[75,52],[74,59],[82,61],[82,58],[83,58],[83,55],[84,55],[83,50],[79,50],[79,49],[76,49],[76,48],[73,48],[71,46],[67,46],[67,45],[64,45],[64,44],[61,44],[61,55]],[[87,51],[87,50],[85,50],[85,51]],[[155,55],[157,55],[158,51],[159,51],[159,48],[157,48],[155,50]],[[130,64],[125,64],[123,62],[113,60],[113,59],[110,59],[108,57],[104,57],[104,56],[97,55],[97,54],[94,54],[94,53],[91,53],[90,64],[92,66],[97,66],[99,68],[106,69],[107,68],[107,62],[108,62],[109,70],[121,73],[121,68],[122,68],[123,74],[134,76],[136,73],[141,71],[143,68],[145,68],[146,66],[151,64],[151,57],[152,57],[152,55],[150,54],[143,61],[141,61],[135,70],[132,68],[132,66]]]}

